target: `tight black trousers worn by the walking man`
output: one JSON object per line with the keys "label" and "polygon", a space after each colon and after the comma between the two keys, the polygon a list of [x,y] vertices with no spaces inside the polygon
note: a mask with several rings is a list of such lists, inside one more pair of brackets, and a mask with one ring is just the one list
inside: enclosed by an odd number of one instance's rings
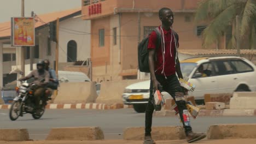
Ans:
{"label": "tight black trousers worn by the walking man", "polygon": [[[192,128],[190,125],[185,125],[183,120],[183,110],[187,110],[186,102],[184,100],[176,101],[175,99],[175,93],[176,92],[183,92],[183,89],[181,88],[181,85],[179,84],[178,77],[174,75],[167,76],[167,79],[165,79],[164,75],[156,75],[156,79],[162,86],[162,91],[165,91],[169,93],[172,98],[175,100],[178,110],[179,110],[179,116],[181,117],[183,127],[185,129],[185,133],[188,134],[190,131],[192,131]],[[145,135],[151,135],[151,127],[152,127],[152,116],[154,112],[154,106],[152,104],[153,99],[153,81],[150,80],[150,97],[146,108],[146,119],[145,119]]]}

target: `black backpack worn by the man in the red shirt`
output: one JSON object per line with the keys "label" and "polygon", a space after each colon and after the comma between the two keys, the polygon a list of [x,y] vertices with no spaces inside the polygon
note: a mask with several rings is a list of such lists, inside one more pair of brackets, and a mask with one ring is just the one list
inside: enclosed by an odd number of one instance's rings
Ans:
{"label": "black backpack worn by the man in the red shirt", "polygon": [[[157,50],[161,43],[161,33],[160,33],[159,27],[156,27],[153,31],[156,32],[156,35],[158,37],[158,40],[156,41],[156,50]],[[176,46],[179,47],[179,36],[175,31],[173,31],[173,29],[172,29],[172,32],[176,39]],[[139,71],[144,72],[144,73],[150,73],[149,62],[148,62],[149,35],[148,35],[148,37],[144,38],[141,41],[141,43],[138,44],[138,67],[139,67]],[[176,49],[174,49],[174,53],[176,53]],[[156,61],[156,56],[155,56],[155,61]],[[174,61],[176,61],[175,57],[174,57]]]}

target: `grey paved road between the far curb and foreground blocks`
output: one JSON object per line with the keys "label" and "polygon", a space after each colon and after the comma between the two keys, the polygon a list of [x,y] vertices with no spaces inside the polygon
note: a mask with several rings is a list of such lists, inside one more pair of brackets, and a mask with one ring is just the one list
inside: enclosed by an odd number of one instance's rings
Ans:
{"label": "grey paved road between the far curb and foreground blocks", "polygon": [[[31,115],[10,121],[8,110],[0,110],[0,128],[27,128],[30,138],[44,140],[51,128],[57,127],[101,127],[105,139],[123,139],[126,127],[143,127],[144,113],[136,113],[133,109],[119,110],[49,110],[42,119],[34,120]],[[255,123],[256,117],[198,117],[192,119],[192,127],[196,132],[206,132],[212,124]],[[154,117],[153,126],[181,125],[178,117]]]}

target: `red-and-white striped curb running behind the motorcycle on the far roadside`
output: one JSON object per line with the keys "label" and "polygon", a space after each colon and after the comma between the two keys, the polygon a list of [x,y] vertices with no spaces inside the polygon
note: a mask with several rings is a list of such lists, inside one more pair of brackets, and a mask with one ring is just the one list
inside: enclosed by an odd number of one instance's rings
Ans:
{"label": "red-and-white striped curb running behind the motorcycle on the far roadside", "polygon": [[[0,109],[10,109],[11,105],[0,105]],[[113,109],[126,109],[131,108],[129,105],[124,104],[48,104],[46,109],[95,109],[95,110],[113,110]]]}

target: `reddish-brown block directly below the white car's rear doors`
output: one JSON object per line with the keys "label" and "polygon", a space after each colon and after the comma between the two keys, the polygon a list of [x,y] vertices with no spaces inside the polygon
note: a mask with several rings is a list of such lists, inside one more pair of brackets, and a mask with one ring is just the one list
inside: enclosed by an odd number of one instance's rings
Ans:
{"label": "reddish-brown block directly below the white car's rear doors", "polygon": [[205,103],[208,102],[221,102],[225,104],[230,103],[231,93],[211,93],[205,94]]}

